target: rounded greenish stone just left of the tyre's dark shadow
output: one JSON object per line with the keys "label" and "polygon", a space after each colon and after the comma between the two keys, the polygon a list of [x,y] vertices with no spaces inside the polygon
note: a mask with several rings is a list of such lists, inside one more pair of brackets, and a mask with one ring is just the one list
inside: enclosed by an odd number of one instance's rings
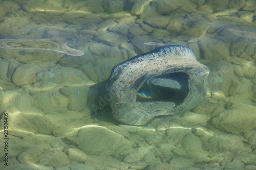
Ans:
{"label": "rounded greenish stone just left of the tyre's dark shadow", "polygon": [[60,93],[69,98],[68,108],[70,110],[81,111],[87,103],[89,87],[64,87]]}

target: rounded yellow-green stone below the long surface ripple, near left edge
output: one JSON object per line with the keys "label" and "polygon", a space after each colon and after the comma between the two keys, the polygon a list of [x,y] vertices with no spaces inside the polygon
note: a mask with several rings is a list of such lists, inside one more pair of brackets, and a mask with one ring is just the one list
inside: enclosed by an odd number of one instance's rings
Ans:
{"label": "rounded yellow-green stone below the long surface ripple, near left edge", "polygon": [[36,82],[36,76],[38,72],[43,69],[34,64],[23,64],[16,68],[14,71],[11,81],[15,86],[23,86],[27,84],[34,84]]}

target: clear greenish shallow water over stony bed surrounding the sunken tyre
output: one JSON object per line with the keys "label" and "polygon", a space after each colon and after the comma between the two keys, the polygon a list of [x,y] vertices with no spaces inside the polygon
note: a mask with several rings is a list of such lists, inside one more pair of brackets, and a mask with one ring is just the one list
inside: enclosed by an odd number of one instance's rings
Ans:
{"label": "clear greenish shallow water over stony bed surrounding the sunken tyre", "polygon": [[[255,12],[250,0],[0,1],[0,168],[256,169]],[[104,82],[162,45],[209,68],[205,98],[144,126],[119,123]],[[180,86],[164,83],[155,79]],[[175,107],[165,102],[157,110]]]}

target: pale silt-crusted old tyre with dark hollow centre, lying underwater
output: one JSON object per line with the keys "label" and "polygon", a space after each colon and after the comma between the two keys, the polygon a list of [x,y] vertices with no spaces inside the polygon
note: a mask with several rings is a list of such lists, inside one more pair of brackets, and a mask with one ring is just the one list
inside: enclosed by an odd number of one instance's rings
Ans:
{"label": "pale silt-crusted old tyre with dark hollow centre, lying underwater", "polygon": [[144,125],[158,115],[188,111],[205,95],[202,82],[208,74],[184,46],[138,55],[116,65],[106,82],[113,116],[125,124]]}

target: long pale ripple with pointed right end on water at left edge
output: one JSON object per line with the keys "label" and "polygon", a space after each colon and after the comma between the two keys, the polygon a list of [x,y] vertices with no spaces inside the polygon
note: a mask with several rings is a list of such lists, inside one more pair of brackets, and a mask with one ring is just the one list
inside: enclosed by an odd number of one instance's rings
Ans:
{"label": "long pale ripple with pointed right end on water at left edge", "polygon": [[67,54],[70,56],[82,56],[82,51],[69,47],[62,38],[48,39],[0,39],[1,48],[18,50],[48,50]]}

